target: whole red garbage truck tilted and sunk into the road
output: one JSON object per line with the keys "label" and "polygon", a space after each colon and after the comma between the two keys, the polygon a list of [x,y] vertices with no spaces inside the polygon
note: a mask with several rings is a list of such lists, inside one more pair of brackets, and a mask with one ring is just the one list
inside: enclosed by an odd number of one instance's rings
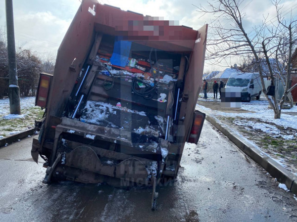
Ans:
{"label": "whole red garbage truck tilted and sunk into the road", "polygon": [[42,73],[36,105],[45,109],[31,154],[63,179],[131,187],[176,178],[186,142],[198,142],[207,25],[198,31],[84,0]]}

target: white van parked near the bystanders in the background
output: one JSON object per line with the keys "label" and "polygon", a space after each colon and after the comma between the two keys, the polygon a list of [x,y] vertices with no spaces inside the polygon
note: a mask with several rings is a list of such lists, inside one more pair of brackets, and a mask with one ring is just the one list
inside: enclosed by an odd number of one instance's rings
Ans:
{"label": "white van parked near the bystanders in the background", "polygon": [[242,101],[258,100],[262,92],[259,73],[232,73],[227,81],[226,88],[241,88]]}

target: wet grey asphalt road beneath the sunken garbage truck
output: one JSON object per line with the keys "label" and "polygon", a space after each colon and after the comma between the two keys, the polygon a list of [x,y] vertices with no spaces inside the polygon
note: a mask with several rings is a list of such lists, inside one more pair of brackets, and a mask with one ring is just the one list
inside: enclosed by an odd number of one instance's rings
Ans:
{"label": "wet grey asphalt road beneath the sunken garbage truck", "polygon": [[187,144],[178,178],[151,189],[123,190],[63,181],[44,185],[31,159],[32,138],[0,148],[0,222],[297,221],[293,194],[205,121],[198,146]]}

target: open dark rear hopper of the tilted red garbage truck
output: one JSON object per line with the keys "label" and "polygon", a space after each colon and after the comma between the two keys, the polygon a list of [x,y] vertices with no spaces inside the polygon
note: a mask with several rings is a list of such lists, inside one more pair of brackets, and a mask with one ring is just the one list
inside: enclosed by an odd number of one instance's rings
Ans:
{"label": "open dark rear hopper of the tilted red garbage truck", "polygon": [[152,177],[176,176],[175,135],[187,69],[180,66],[190,55],[118,39],[96,34],[55,127],[50,162],[60,161],[45,182],[150,184]]}

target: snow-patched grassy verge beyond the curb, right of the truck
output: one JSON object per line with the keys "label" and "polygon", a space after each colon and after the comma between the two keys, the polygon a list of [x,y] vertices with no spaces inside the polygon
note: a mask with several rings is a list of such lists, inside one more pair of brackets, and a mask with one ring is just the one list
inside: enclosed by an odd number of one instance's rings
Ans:
{"label": "snow-patched grassy verge beyond the curb, right of the truck", "polygon": [[[216,102],[220,103],[220,100],[216,99],[199,98],[198,103],[199,100],[207,103],[210,102],[209,104],[216,104]],[[210,105],[208,107],[212,108],[215,106]],[[251,100],[249,103],[242,102],[242,109],[247,110],[248,112],[232,111],[231,108],[228,110],[226,110],[226,108],[222,109],[223,111],[212,110],[208,107],[198,104],[196,105],[196,109],[206,113],[206,115],[212,116],[219,122],[223,122],[223,125],[227,125],[227,127],[234,133],[253,144],[263,155],[271,157],[280,165],[297,175],[296,159],[294,159],[297,156],[297,150],[296,148],[292,148],[294,144],[296,145],[294,141],[297,139],[297,116],[288,114],[288,112],[297,113],[297,106],[294,106],[291,109],[282,110],[280,119],[274,119],[273,110],[268,108],[268,101],[263,99]],[[226,117],[231,119],[225,119]],[[242,130],[245,130],[246,137],[241,133]],[[275,138],[277,139],[275,141],[278,141],[279,143],[276,143],[273,147],[259,147],[256,145],[256,143],[259,144],[259,139],[255,139],[255,137],[259,137],[260,134],[257,133],[259,131],[262,132],[261,136],[264,141],[265,135],[268,135],[272,138],[271,140]],[[288,144],[292,151],[286,151]],[[282,149],[283,151],[279,151]]]}

